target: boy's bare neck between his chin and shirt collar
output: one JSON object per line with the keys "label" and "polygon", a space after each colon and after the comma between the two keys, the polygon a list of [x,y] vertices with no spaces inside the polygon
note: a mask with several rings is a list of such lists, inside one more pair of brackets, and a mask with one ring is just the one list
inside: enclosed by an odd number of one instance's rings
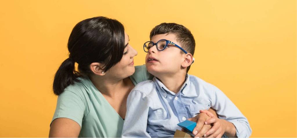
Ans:
{"label": "boy's bare neck between his chin and shirt collar", "polygon": [[165,74],[156,76],[168,90],[178,93],[186,81],[186,73]]}

